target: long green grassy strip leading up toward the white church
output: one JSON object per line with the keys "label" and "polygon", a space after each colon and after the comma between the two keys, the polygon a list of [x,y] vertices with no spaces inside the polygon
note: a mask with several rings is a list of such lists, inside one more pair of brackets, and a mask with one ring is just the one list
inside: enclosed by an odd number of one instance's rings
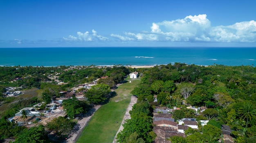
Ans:
{"label": "long green grassy strip leading up toward the white church", "polygon": [[130,91],[139,82],[132,80],[120,85],[115,90],[117,95],[94,113],[76,143],[112,143],[130,103]]}

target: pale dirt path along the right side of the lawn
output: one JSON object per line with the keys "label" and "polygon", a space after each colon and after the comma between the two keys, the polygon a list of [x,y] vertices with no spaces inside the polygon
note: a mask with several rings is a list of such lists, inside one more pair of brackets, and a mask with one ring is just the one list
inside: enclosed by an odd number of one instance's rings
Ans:
{"label": "pale dirt path along the right side of the lawn", "polygon": [[[129,111],[132,110],[132,106],[137,102],[137,99],[138,99],[138,98],[136,98],[135,96],[132,96],[132,97],[131,97],[130,104],[129,104],[128,108],[126,109],[126,113],[125,113],[125,115],[124,115],[122,124],[121,124],[119,130],[117,131],[117,134],[118,134],[121,130],[124,129],[123,124],[125,123],[125,120],[126,120],[126,119],[130,119]],[[116,139],[116,138],[117,138],[117,134],[116,134],[116,136],[115,136],[115,139],[114,139],[113,143],[116,143],[116,141],[117,141],[117,139]]]}

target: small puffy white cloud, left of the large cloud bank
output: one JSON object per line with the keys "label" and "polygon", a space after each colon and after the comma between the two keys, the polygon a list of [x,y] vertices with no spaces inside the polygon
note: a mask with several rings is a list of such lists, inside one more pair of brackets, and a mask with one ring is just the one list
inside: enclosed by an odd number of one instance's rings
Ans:
{"label": "small puffy white cloud, left of the large cloud bank", "polygon": [[63,37],[64,40],[66,41],[95,41],[95,40],[99,40],[99,41],[107,41],[108,38],[107,37],[103,37],[101,35],[97,34],[97,31],[95,31],[94,29],[92,29],[92,33],[86,31],[86,32],[77,32],[76,33],[77,36],[73,36],[73,35],[69,35],[68,37]]}

